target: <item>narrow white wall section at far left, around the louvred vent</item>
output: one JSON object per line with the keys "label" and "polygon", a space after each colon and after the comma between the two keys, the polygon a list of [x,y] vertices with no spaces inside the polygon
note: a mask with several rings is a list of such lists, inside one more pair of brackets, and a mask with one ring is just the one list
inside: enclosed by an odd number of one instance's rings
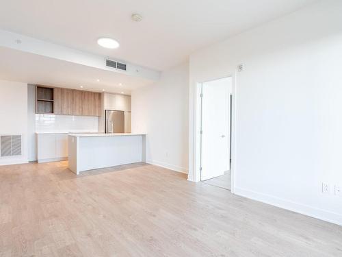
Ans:
{"label": "narrow white wall section at far left, around the louvred vent", "polygon": [[21,134],[22,156],[0,157],[0,165],[27,162],[27,84],[0,80],[0,135]]}

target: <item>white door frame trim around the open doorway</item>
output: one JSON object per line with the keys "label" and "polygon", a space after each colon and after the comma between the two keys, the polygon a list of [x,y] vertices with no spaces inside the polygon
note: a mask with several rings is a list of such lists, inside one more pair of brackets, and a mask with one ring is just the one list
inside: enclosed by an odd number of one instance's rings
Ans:
{"label": "white door frame trim around the open doorway", "polygon": [[211,82],[215,79],[223,79],[225,77],[232,78],[232,131],[231,131],[231,193],[235,192],[235,149],[236,149],[236,101],[237,101],[237,90],[236,90],[236,75],[235,74],[228,74],[224,77],[213,77],[212,79],[208,79],[201,82],[196,82],[195,90],[194,90],[194,181],[200,181],[200,122],[201,122],[201,86],[205,82]]}

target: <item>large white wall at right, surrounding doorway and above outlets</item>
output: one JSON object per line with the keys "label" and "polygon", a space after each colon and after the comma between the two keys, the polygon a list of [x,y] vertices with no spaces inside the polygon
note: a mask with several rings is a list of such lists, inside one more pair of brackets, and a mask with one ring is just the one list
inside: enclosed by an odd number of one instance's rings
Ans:
{"label": "large white wall at right, surrounding doorway and above outlets", "polygon": [[190,180],[194,86],[233,75],[235,193],[342,225],[342,198],[321,193],[342,185],[341,13],[320,1],[190,56]]}

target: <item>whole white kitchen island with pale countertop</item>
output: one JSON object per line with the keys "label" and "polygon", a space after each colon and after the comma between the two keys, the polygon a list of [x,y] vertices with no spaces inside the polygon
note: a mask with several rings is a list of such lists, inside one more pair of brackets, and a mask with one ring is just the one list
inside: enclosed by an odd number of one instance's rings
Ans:
{"label": "whole white kitchen island with pale countertop", "polygon": [[68,135],[68,168],[76,174],[92,169],[145,161],[145,134]]}

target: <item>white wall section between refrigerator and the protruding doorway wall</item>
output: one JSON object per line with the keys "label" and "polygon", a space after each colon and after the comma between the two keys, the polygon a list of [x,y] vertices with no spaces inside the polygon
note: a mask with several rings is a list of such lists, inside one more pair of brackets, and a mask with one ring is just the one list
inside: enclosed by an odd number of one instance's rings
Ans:
{"label": "white wall section between refrigerator and the protruding doorway wall", "polygon": [[189,64],[161,75],[159,82],[133,90],[132,133],[145,132],[146,160],[175,171],[188,166]]}

